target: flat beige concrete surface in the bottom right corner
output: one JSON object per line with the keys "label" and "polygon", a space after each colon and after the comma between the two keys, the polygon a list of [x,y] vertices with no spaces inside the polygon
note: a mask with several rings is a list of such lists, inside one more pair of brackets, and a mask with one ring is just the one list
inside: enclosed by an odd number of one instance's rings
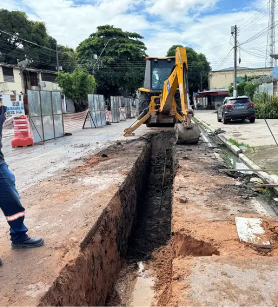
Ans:
{"label": "flat beige concrete surface in the bottom right corner", "polygon": [[278,302],[278,259],[196,257],[185,277],[190,307],[265,307]]}

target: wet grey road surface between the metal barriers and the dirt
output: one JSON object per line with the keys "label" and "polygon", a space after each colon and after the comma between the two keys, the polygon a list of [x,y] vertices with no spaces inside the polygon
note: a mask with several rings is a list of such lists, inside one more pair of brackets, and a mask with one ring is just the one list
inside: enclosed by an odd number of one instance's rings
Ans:
{"label": "wet grey road surface between the metal barriers and the dirt", "polygon": [[[80,129],[72,136],[62,137],[28,148],[12,148],[12,137],[3,138],[3,153],[10,169],[16,176],[19,191],[35,184],[59,169],[70,168],[70,161],[95,153],[117,140],[137,138],[150,131],[145,125],[136,130],[135,137],[124,137],[124,129],[134,119],[122,121],[98,129]],[[152,128],[155,130],[158,128]],[[70,131],[69,131],[70,132]]]}

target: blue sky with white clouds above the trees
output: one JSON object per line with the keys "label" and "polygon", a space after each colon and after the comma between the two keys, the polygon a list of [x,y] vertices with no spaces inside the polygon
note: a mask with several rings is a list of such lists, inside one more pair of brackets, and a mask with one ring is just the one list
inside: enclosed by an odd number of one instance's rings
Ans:
{"label": "blue sky with white clouds above the trees", "polygon": [[75,48],[98,25],[111,24],[140,33],[149,55],[164,56],[182,44],[205,53],[212,69],[233,65],[230,32],[236,24],[244,43],[238,65],[265,66],[267,0],[0,0],[0,7],[44,21],[62,45]]}

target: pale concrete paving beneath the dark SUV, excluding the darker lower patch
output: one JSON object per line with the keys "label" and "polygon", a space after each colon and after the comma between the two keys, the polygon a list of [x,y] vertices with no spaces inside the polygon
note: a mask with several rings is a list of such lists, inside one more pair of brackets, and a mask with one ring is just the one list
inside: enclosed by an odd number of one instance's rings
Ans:
{"label": "pale concrete paving beneath the dark SUV, excluding the darker lower patch", "polygon": [[[227,139],[232,138],[238,142],[248,144],[250,146],[269,146],[275,145],[275,141],[264,121],[264,119],[256,119],[256,122],[251,124],[248,120],[234,121],[227,125],[222,122],[218,123],[216,114],[212,111],[196,111],[195,115],[209,124],[214,129],[221,128],[227,133]],[[278,119],[268,119],[268,124],[271,127],[273,134],[278,134]]]}

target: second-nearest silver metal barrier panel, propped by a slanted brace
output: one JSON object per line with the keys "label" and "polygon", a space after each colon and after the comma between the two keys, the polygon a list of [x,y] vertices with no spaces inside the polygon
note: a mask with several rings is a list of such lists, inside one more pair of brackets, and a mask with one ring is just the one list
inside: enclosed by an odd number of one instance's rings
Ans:
{"label": "second-nearest silver metal barrier panel, propped by a slanted brace", "polygon": [[91,127],[98,128],[106,125],[105,105],[103,95],[88,95]]}

